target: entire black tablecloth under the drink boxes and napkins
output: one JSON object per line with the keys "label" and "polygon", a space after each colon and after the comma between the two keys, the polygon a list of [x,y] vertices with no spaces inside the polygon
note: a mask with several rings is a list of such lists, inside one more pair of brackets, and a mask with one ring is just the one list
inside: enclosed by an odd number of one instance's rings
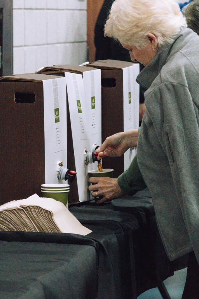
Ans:
{"label": "entire black tablecloth under the drink boxes and napkins", "polygon": [[183,268],[166,256],[148,191],[136,196],[70,207],[87,236],[1,231],[0,298],[136,299]]}

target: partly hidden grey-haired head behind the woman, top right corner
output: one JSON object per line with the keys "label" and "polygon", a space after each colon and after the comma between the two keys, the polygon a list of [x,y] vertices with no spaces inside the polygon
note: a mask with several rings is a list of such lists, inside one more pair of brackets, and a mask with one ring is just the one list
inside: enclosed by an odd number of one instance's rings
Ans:
{"label": "partly hidden grey-haired head behind the woman, top right corner", "polygon": [[199,0],[194,0],[184,6],[182,13],[186,18],[187,27],[199,35]]}

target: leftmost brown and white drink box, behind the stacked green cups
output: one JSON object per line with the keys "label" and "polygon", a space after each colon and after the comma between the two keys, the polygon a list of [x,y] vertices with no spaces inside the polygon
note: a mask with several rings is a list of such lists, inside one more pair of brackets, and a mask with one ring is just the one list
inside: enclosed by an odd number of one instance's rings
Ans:
{"label": "leftmost brown and white drink box, behind the stacked green cups", "polygon": [[58,162],[67,166],[65,78],[1,77],[0,105],[0,204],[34,193],[41,196],[41,184],[62,182]]}

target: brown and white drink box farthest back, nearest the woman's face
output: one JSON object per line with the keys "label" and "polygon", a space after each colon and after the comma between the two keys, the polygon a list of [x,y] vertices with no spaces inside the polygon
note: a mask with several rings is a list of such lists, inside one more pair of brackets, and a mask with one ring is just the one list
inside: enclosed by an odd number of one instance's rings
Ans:
{"label": "brown and white drink box farthest back, nearest the woman's face", "polygon": [[[138,129],[139,85],[135,79],[139,64],[119,60],[98,60],[87,65],[101,69],[102,142],[118,132]],[[113,168],[118,177],[126,170],[135,156],[135,149],[128,149],[122,157],[106,157],[104,168]]]}

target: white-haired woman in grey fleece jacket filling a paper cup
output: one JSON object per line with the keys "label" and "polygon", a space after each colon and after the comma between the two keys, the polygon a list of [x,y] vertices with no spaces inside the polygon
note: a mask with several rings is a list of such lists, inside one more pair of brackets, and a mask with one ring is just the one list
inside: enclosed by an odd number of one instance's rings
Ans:
{"label": "white-haired woman in grey fleece jacket filling a paper cup", "polygon": [[[138,139],[137,157],[130,167],[118,179],[89,179],[95,183],[89,189],[104,202],[133,194],[138,185],[146,184],[169,259],[194,251],[192,265],[197,265],[199,37],[186,27],[174,0],[115,0],[112,4],[104,32],[129,50],[132,61],[145,66],[137,82],[147,89],[146,112],[139,136],[136,130],[115,134],[96,151],[98,158],[119,156]],[[187,294],[183,298],[199,298]]]}

